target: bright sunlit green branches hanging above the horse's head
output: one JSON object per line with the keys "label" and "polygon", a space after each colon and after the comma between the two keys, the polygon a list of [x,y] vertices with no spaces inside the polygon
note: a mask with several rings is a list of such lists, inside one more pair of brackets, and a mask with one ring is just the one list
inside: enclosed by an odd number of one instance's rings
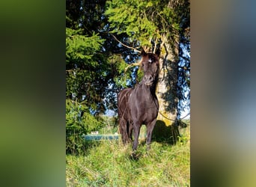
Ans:
{"label": "bright sunlit green branches hanging above the horse's head", "polygon": [[161,40],[162,34],[179,30],[174,11],[168,1],[106,1],[112,32],[126,33],[141,46],[151,46],[151,40]]}

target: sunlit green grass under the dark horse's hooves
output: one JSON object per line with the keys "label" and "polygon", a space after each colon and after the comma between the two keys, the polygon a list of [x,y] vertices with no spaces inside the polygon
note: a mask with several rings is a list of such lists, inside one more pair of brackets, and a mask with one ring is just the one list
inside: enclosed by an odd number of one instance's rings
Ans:
{"label": "sunlit green grass under the dark horse's hooves", "polygon": [[141,140],[132,146],[118,141],[91,143],[85,156],[66,156],[67,186],[190,186],[189,126],[176,144],[153,141],[149,152]]}

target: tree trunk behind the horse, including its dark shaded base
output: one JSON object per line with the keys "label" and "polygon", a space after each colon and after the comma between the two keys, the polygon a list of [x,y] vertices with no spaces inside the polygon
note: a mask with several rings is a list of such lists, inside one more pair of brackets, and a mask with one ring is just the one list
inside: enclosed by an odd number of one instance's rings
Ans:
{"label": "tree trunk behind the horse, including its dark shaded base", "polygon": [[[175,144],[180,136],[175,120],[177,118],[177,79],[178,79],[178,45],[171,46],[166,37],[162,46],[162,58],[159,61],[159,81],[156,85],[156,96],[159,101],[159,113],[156,126],[153,129],[153,137],[156,140],[168,140]],[[171,119],[171,120],[170,120]]]}

